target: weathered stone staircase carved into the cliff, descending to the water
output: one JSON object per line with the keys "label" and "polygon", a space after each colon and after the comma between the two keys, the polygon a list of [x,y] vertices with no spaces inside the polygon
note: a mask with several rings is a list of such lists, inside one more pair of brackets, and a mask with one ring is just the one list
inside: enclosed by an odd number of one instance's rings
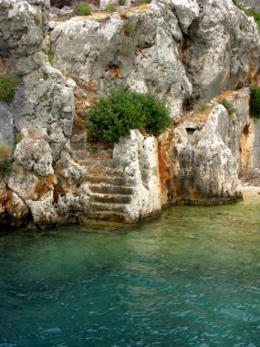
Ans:
{"label": "weathered stone staircase carved into the cliff, descending to the water", "polygon": [[133,223],[127,212],[133,182],[120,172],[119,161],[113,158],[113,145],[99,142],[71,142],[73,159],[88,169],[86,182],[90,189],[89,220]]}

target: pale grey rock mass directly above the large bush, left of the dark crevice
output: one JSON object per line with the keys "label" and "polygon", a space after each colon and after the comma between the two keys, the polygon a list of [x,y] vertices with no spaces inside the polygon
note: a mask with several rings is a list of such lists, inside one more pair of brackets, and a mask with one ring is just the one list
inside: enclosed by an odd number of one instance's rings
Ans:
{"label": "pale grey rock mass directly above the large bush, left of the dark crevice", "polygon": [[182,65],[182,31],[170,3],[130,11],[126,18],[104,16],[104,21],[76,17],[55,26],[51,47],[57,68],[97,93],[124,85],[153,90],[168,100],[172,117],[179,118],[192,85]]}

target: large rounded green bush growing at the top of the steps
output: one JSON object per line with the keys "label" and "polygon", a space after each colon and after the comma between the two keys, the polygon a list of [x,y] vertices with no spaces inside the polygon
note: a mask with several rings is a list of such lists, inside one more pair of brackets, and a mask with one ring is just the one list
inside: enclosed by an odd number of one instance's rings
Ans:
{"label": "large rounded green bush growing at the top of the steps", "polygon": [[92,140],[119,142],[130,129],[157,135],[171,123],[170,110],[151,93],[112,89],[88,110],[86,126]]}

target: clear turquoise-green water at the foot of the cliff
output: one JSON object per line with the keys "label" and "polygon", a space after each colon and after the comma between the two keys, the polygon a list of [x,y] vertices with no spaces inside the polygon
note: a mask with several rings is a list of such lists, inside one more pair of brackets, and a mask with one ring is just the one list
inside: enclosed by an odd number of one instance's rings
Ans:
{"label": "clear turquoise-green water at the foot of the cliff", "polygon": [[0,347],[260,346],[260,204],[0,235]]}

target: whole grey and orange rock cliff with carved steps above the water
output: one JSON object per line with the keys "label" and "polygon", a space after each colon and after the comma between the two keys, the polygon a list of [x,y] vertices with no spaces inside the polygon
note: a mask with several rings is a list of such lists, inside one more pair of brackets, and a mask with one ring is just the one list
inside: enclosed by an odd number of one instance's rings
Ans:
{"label": "whole grey and orange rock cliff with carved steps above the water", "polygon": [[[259,68],[254,20],[232,0],[127,5],[49,22],[47,0],[1,1],[0,79],[19,77],[12,100],[0,95],[0,144],[13,148],[7,161],[0,148],[2,225],[133,223],[163,205],[231,203],[259,170],[245,88]],[[89,105],[120,86],[164,98],[172,126],[89,142]]]}

